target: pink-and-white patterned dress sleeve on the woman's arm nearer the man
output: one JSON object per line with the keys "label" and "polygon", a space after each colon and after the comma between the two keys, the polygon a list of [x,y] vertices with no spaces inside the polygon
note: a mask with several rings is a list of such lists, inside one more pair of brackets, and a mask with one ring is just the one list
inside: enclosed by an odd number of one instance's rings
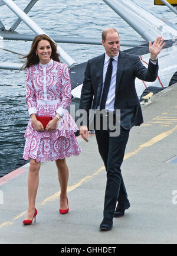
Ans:
{"label": "pink-and-white patterned dress sleeve on the woman's arm nearer the man", "polygon": [[70,74],[68,71],[67,64],[63,65],[62,77],[61,77],[61,102],[60,106],[57,109],[57,113],[61,116],[64,115],[64,112],[71,103],[71,82]]}

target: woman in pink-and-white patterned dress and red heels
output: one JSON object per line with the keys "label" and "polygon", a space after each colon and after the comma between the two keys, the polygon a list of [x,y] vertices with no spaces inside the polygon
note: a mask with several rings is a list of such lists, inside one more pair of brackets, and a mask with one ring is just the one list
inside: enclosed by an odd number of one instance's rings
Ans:
{"label": "woman in pink-and-white patterned dress and red heels", "polygon": [[[71,84],[67,64],[60,63],[56,44],[47,35],[37,35],[27,61],[27,106],[30,115],[25,131],[24,159],[30,159],[28,175],[28,213],[24,224],[37,215],[37,195],[41,161],[54,161],[60,182],[60,213],[68,212],[68,167],[65,157],[81,152],[74,132],[77,125],[67,111],[71,102]],[[46,128],[38,116],[51,116]],[[45,129],[44,129],[45,128]]]}

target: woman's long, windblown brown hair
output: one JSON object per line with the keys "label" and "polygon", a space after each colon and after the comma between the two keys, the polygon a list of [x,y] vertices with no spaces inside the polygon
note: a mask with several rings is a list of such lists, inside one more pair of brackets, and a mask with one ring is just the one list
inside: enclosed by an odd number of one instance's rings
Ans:
{"label": "woman's long, windblown brown hair", "polygon": [[21,70],[26,69],[27,67],[31,67],[32,65],[40,62],[38,55],[36,55],[35,53],[37,50],[38,43],[41,40],[47,40],[50,43],[50,46],[52,49],[51,59],[60,62],[60,58],[59,58],[60,54],[57,53],[57,44],[55,44],[54,41],[51,40],[51,38],[45,34],[36,35],[34,37],[34,40],[32,41],[30,53],[28,53],[26,56],[21,58],[21,59],[27,58],[27,61],[25,62],[24,66],[21,67]]}

